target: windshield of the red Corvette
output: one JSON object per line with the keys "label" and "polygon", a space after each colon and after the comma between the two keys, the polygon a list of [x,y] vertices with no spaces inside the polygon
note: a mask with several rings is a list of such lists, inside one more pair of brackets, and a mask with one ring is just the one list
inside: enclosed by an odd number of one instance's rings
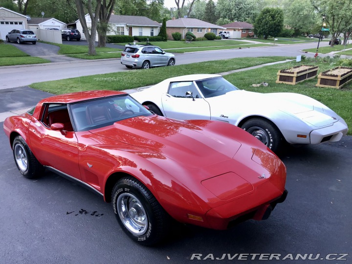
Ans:
{"label": "windshield of the red Corvette", "polygon": [[102,128],[123,119],[152,114],[129,95],[104,97],[69,107],[77,131]]}

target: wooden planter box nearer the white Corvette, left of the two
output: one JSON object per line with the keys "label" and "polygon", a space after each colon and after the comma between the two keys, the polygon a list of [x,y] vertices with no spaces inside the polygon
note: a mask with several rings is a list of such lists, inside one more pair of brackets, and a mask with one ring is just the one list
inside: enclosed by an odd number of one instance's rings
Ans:
{"label": "wooden planter box nearer the white Corvette, left of the two", "polygon": [[315,78],[318,66],[295,66],[289,69],[279,70],[276,83],[295,85],[305,80]]}

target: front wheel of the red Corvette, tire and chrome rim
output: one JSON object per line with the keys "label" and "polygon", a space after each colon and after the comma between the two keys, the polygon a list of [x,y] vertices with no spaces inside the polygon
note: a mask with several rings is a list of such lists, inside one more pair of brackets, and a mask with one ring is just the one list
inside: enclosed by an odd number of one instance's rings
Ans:
{"label": "front wheel of the red Corvette, tire and chrome rim", "polygon": [[170,216],[137,179],[119,179],[111,194],[112,207],[124,232],[135,242],[154,245],[169,229]]}

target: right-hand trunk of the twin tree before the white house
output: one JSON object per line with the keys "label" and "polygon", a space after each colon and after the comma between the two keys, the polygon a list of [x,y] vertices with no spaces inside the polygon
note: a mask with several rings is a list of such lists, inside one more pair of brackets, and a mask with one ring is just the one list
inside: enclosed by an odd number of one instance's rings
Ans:
{"label": "right-hand trunk of the twin tree before the white house", "polygon": [[99,22],[97,24],[98,47],[105,47],[108,24],[113,11],[115,0],[103,0],[99,9]]}

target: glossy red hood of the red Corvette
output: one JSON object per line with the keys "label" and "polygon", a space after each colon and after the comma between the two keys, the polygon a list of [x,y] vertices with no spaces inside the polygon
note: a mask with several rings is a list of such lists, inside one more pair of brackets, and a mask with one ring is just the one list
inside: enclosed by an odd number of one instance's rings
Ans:
{"label": "glossy red hood of the red Corvette", "polygon": [[157,115],[129,118],[89,132],[171,158],[189,169],[231,159],[241,147],[225,135]]}

